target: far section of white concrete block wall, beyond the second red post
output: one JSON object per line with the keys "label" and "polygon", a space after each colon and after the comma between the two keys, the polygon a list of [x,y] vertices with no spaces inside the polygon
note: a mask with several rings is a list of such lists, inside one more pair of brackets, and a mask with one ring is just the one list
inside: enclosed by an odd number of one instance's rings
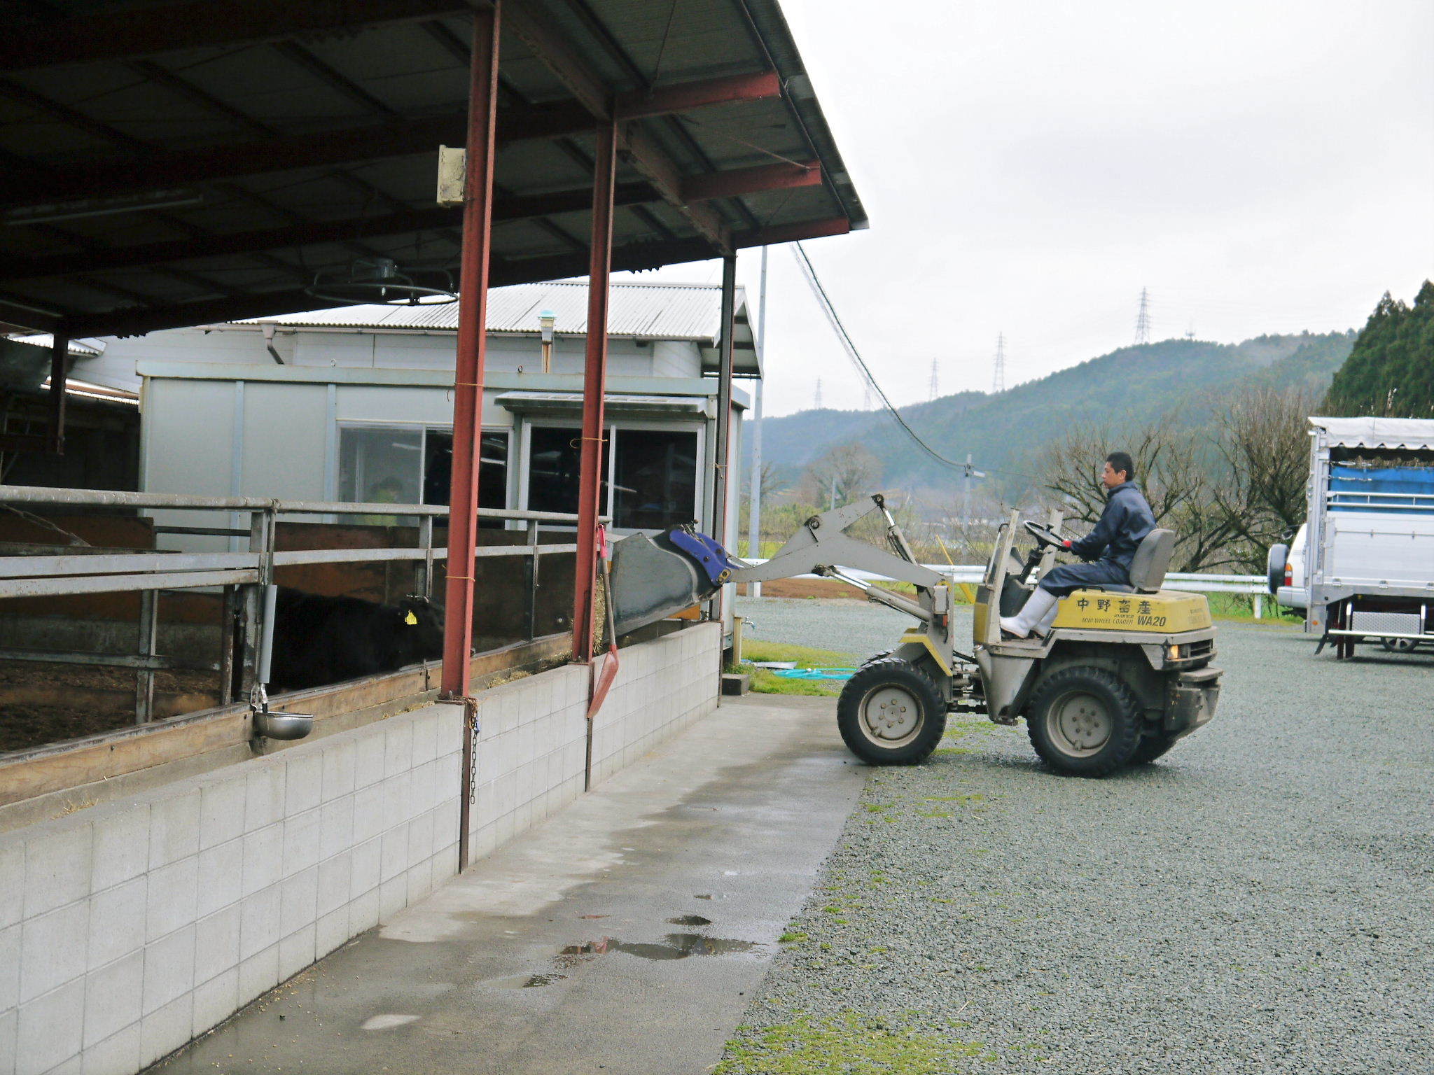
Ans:
{"label": "far section of white concrete block wall, beyond the second red post", "polygon": [[618,678],[592,721],[594,787],[717,708],[721,625],[700,624],[619,651]]}

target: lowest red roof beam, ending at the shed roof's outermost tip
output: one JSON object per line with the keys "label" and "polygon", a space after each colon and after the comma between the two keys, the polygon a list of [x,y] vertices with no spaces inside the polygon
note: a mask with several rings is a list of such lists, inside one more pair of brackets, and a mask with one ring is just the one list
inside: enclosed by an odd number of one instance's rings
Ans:
{"label": "lowest red roof beam, ending at the shed roof's outermost tip", "polygon": [[[773,247],[780,242],[794,242],[797,239],[845,235],[850,229],[850,221],[845,216],[833,216],[803,224],[733,232],[731,245],[734,249]],[[612,271],[650,269],[684,261],[710,261],[711,257],[711,245],[706,239],[693,238],[651,242],[632,248],[614,249]],[[495,259],[489,275],[489,285],[502,287],[505,284],[532,284],[541,280],[564,280],[566,277],[581,277],[587,269],[587,251],[561,254],[552,258],[526,258],[522,261]],[[268,291],[258,295],[241,295],[238,298],[181,302],[153,310],[118,310],[109,314],[83,314],[56,318],[53,324],[57,330],[66,331],[72,340],[82,340],[92,335],[143,335],[145,333],[156,333],[163,328],[242,321],[251,317],[277,317],[280,314],[297,314],[313,308],[314,297],[307,291],[295,288],[293,291]],[[32,317],[32,322],[33,320]]]}

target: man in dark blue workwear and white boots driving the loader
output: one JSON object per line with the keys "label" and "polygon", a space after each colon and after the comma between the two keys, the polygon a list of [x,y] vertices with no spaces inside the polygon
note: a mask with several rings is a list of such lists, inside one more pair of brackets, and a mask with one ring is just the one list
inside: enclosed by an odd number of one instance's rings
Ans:
{"label": "man in dark blue workwear and white boots driving the loader", "polygon": [[1100,476],[1108,490],[1106,510],[1100,513],[1094,530],[1065,542],[1067,549],[1093,562],[1063,563],[1047,572],[1020,613],[1001,616],[1002,632],[1014,638],[1027,638],[1032,631],[1044,635],[1055,619],[1060,598],[1081,586],[1130,583],[1136,546],[1156,527],[1154,513],[1134,479],[1136,464],[1127,453],[1111,452],[1106,456],[1106,469]]}

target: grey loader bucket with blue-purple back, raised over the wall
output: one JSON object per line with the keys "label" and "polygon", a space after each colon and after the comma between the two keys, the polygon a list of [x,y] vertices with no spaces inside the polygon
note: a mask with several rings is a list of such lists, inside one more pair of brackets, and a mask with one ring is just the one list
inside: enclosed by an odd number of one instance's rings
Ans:
{"label": "grey loader bucket with blue-purple back, raised over the wall", "polygon": [[673,527],[655,538],[634,533],[612,543],[612,615],[617,632],[691,608],[743,568],[704,533]]}

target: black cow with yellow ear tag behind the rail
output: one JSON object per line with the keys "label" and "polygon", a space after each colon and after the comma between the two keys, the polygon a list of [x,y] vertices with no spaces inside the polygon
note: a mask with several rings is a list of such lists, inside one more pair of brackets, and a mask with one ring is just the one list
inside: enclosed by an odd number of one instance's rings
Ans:
{"label": "black cow with yellow ear tag behind the rail", "polygon": [[270,671],[275,689],[324,687],[440,656],[443,611],[427,598],[380,605],[278,588]]}

